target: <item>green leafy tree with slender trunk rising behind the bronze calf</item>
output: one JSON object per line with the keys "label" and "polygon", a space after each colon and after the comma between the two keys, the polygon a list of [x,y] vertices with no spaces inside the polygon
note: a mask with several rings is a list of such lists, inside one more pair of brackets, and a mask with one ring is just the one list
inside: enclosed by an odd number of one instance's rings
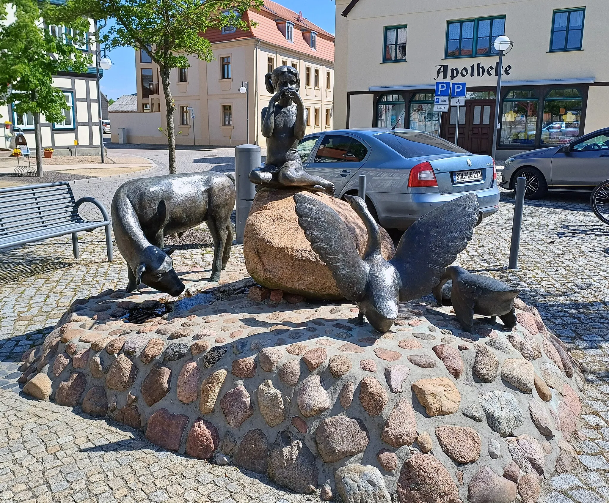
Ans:
{"label": "green leafy tree with slender trunk rising behind the bronze calf", "polygon": [[174,68],[188,68],[188,55],[213,60],[205,32],[234,26],[247,30],[241,15],[263,0],[67,0],[57,7],[62,17],[113,19],[100,37],[107,49],[133,47],[146,52],[158,64],[166,106],[169,173],[175,173],[175,104],[170,75]]}

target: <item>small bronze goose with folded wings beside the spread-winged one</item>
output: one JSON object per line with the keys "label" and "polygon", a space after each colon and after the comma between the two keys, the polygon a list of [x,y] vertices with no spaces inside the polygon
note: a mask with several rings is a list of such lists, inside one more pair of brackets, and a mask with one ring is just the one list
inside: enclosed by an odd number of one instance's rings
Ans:
{"label": "small bronze goose with folded wings beside the spread-winged one", "polygon": [[474,314],[490,316],[491,323],[499,316],[505,328],[515,327],[514,299],[520,290],[499,280],[472,274],[462,267],[450,266],[433,290],[438,305],[443,303],[442,287],[448,280],[452,280],[452,307],[463,330],[473,333]]}

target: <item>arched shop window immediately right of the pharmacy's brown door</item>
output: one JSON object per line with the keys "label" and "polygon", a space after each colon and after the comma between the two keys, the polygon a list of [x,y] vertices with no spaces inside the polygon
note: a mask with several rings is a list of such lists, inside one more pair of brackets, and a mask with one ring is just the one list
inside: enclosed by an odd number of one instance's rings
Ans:
{"label": "arched shop window immediately right of the pharmacy's brown door", "polygon": [[510,91],[503,100],[501,145],[534,145],[537,129],[537,96],[530,89]]}

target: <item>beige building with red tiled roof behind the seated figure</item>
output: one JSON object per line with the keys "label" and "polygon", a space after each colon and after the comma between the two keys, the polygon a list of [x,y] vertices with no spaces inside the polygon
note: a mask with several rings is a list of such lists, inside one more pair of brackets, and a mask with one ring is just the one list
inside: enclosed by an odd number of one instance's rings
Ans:
{"label": "beige building with red tiled roof behind the seated figure", "polygon": [[[307,133],[333,128],[334,37],[274,2],[266,1],[260,11],[248,11],[244,17],[258,23],[250,32],[205,34],[214,60],[191,56],[189,68],[172,71],[177,144],[266,145],[260,116],[272,94],[264,77],[283,64],[300,74]],[[136,51],[135,58],[138,110],[110,111],[112,141],[118,141],[118,128],[126,128],[128,143],[166,143],[159,131],[166,130],[166,114],[158,66],[143,51]],[[240,92],[242,86],[247,93]]]}

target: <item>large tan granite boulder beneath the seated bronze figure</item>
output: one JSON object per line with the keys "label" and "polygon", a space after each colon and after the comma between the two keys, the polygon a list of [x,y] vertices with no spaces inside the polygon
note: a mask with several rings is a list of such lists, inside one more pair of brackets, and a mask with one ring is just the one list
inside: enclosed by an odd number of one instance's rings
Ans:
{"label": "large tan granite boulder beneath the seated bronze figure", "polygon": [[[283,290],[309,298],[342,299],[332,273],[312,251],[305,231],[298,226],[294,196],[298,190],[262,189],[256,193],[245,223],[243,254],[247,272],[270,290]],[[306,192],[323,201],[347,224],[360,254],[368,234],[351,206],[325,193]],[[385,258],[393,257],[393,242],[381,229]]]}

